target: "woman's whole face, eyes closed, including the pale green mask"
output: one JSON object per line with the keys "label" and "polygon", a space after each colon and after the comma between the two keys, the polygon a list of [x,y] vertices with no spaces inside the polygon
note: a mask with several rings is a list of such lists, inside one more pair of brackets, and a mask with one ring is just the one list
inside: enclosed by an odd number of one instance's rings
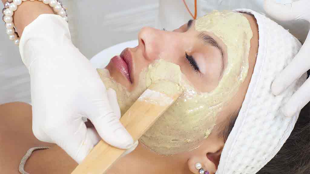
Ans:
{"label": "woman's whole face, eyes closed, including the pale green mask", "polygon": [[[144,27],[138,36],[138,46],[127,48],[120,56],[111,59],[106,67],[109,78],[99,70],[105,86],[117,92],[122,114],[147,88],[144,76],[150,66],[159,64],[154,66],[154,74],[168,80],[175,80],[180,71],[182,80],[185,79],[191,89],[187,89],[140,139],[160,154],[176,154],[197,148],[198,144],[200,146],[215,125],[229,120],[228,115],[241,107],[246,94],[255,64],[248,55],[253,58],[257,53],[257,50],[249,51],[253,28],[248,20],[252,17],[231,13],[212,15],[209,17],[214,21],[210,26],[206,24],[208,20],[198,19],[174,31]],[[243,21],[240,25],[246,24],[246,27],[240,28],[239,23],[235,24],[235,18]],[[217,24],[227,22],[235,27],[218,32],[223,26]],[[204,26],[209,27],[209,31],[205,31]],[[249,30],[250,35],[247,35]],[[257,47],[257,40],[253,43]],[[244,58],[246,66],[243,67]],[[247,76],[248,69],[250,76]],[[224,106],[230,101],[234,102]]]}

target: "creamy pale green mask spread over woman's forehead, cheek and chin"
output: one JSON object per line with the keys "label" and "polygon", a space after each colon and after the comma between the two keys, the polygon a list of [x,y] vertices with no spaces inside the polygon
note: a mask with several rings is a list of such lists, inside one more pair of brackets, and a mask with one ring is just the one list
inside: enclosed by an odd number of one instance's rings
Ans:
{"label": "creamy pale green mask spread over woman's forehead, cheek and chin", "polygon": [[116,91],[122,115],[154,81],[170,80],[184,89],[184,94],[139,139],[158,154],[178,154],[199,147],[214,128],[216,115],[237,93],[247,76],[253,34],[246,17],[236,12],[214,11],[196,20],[195,29],[213,33],[227,46],[223,76],[211,92],[197,91],[182,74],[179,65],[160,58],[139,74],[139,83],[131,92],[113,80],[107,69],[98,70],[106,88]]}

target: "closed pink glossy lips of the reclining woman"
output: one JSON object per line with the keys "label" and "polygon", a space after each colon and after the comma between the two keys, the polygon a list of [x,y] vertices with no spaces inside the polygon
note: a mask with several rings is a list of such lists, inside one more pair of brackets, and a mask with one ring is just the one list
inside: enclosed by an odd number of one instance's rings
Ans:
{"label": "closed pink glossy lips of the reclining woman", "polygon": [[132,58],[131,53],[126,48],[119,56],[114,56],[111,63],[116,67],[131,83]]}

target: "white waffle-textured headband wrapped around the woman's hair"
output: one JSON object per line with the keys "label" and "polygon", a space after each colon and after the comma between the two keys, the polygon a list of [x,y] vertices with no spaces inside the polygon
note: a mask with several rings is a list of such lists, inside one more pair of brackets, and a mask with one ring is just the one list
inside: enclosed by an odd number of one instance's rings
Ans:
{"label": "white waffle-textured headband wrapped around the woman's hair", "polygon": [[281,149],[298,119],[285,117],[281,106],[306,80],[304,74],[278,96],[270,87],[277,74],[298,53],[301,44],[283,27],[248,9],[255,16],[259,49],[254,72],[236,123],[225,143],[216,174],[255,174]]}

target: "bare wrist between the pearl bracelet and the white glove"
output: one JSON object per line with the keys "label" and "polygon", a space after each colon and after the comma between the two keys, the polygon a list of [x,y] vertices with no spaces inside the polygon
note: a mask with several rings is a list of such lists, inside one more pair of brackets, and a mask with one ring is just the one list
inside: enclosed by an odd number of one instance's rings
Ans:
{"label": "bare wrist between the pearl bracelet and the white glove", "polygon": [[[6,2],[6,0],[1,1]],[[24,28],[41,14],[54,14],[54,12],[48,4],[42,1],[24,1],[18,6],[18,9],[14,11],[13,20],[20,37]]]}

